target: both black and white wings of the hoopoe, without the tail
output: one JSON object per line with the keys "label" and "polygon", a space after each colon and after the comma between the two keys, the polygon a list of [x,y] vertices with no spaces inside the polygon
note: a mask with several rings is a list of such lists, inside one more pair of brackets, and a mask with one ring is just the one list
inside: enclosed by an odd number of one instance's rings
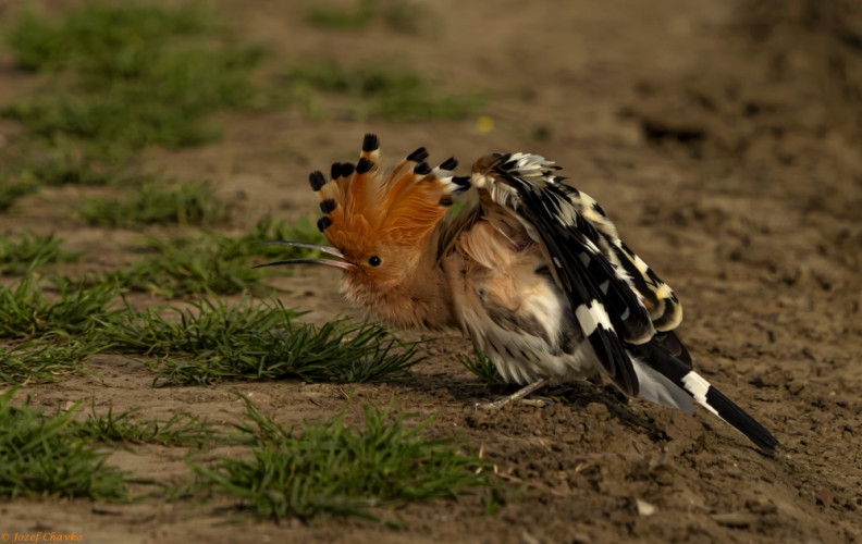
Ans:
{"label": "both black and white wings of the hoopoe, without the tail", "polygon": [[589,196],[563,184],[551,161],[534,154],[491,154],[473,165],[473,185],[513,214],[540,243],[604,371],[638,393],[625,343],[649,342],[681,320],[667,285],[619,240]]}

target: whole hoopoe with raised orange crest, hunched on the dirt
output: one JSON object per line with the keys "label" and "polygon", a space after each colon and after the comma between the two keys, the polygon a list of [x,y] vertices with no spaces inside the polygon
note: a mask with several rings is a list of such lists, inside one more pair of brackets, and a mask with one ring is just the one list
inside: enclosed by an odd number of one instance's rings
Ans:
{"label": "whole hoopoe with raised orange crest, hunched on the dirt", "polygon": [[[691,399],[772,454],[778,441],[691,369],[674,330],[682,308],[591,197],[530,153],[493,153],[455,176],[419,148],[387,175],[368,134],[356,164],[310,175],[346,297],[402,329],[458,329],[506,382],[524,387],[604,374],[627,395],[694,413]],[[471,195],[471,196],[469,196]],[[453,203],[461,202],[459,211]]]}

